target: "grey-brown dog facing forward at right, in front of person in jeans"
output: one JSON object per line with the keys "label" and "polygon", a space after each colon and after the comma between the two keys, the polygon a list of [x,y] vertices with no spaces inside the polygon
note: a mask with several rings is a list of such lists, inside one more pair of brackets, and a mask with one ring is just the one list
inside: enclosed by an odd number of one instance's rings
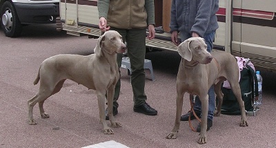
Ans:
{"label": "grey-brown dog facing forward at right, in front of person in jeans", "polygon": [[221,84],[228,80],[235,94],[242,113],[241,127],[248,126],[244,101],[239,87],[239,68],[233,55],[223,51],[208,53],[204,39],[191,37],[178,46],[182,59],[177,74],[177,111],[175,127],[166,136],[168,139],[177,138],[180,125],[180,117],[183,106],[184,93],[198,95],[201,101],[201,131],[199,144],[206,143],[207,113],[208,113],[208,89],[214,85],[215,93],[219,98],[219,104],[215,115],[220,114],[223,94]]}

